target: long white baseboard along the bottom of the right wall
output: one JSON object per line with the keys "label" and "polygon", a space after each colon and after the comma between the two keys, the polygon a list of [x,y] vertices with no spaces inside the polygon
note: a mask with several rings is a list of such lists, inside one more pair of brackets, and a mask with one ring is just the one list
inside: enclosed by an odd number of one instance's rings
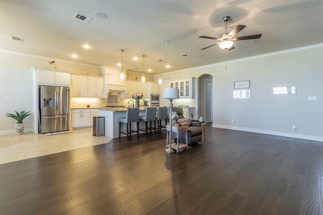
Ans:
{"label": "long white baseboard along the bottom of the right wall", "polygon": [[282,136],[282,137],[292,137],[292,138],[298,138],[298,139],[314,140],[314,141],[323,142],[323,137],[318,137],[318,136],[310,136],[310,135],[303,135],[303,134],[292,134],[292,133],[285,133],[285,132],[279,132],[279,131],[268,131],[268,130],[253,129],[253,128],[235,127],[235,126],[224,126],[224,125],[217,125],[217,124],[212,124],[212,127],[213,128],[224,128],[224,129],[237,130],[237,131],[247,131],[247,132],[253,132],[253,133],[270,134],[270,135],[276,135],[276,136]]}

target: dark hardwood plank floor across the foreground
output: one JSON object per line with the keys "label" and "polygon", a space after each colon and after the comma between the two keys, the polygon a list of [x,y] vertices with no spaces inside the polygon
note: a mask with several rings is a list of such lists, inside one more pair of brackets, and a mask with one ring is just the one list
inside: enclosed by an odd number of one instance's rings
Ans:
{"label": "dark hardwood plank floor across the foreground", "polygon": [[207,125],[165,148],[164,130],[0,165],[0,214],[323,214],[323,142]]}

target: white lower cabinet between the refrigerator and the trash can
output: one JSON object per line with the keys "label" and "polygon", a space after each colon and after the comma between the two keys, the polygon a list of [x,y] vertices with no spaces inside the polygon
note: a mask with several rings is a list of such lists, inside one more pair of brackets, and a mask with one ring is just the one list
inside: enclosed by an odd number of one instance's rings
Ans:
{"label": "white lower cabinet between the refrigerator and the trash can", "polygon": [[72,109],[72,128],[86,128],[93,126],[93,116],[97,116],[96,109]]}

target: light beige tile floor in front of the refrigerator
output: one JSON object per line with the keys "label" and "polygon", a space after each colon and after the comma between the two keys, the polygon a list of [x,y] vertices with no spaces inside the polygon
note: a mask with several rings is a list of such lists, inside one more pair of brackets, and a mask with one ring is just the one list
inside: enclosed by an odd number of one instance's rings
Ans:
{"label": "light beige tile floor in front of the refrigerator", "polygon": [[0,135],[0,164],[99,145],[112,139],[93,136],[92,131],[92,128],[84,128],[50,136],[34,133]]}

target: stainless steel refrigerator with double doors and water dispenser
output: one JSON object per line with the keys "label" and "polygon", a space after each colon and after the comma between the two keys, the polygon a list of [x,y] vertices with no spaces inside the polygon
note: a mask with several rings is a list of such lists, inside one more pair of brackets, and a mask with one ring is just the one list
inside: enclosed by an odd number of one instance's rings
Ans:
{"label": "stainless steel refrigerator with double doors and water dispenser", "polygon": [[39,86],[39,133],[68,131],[70,88]]}

